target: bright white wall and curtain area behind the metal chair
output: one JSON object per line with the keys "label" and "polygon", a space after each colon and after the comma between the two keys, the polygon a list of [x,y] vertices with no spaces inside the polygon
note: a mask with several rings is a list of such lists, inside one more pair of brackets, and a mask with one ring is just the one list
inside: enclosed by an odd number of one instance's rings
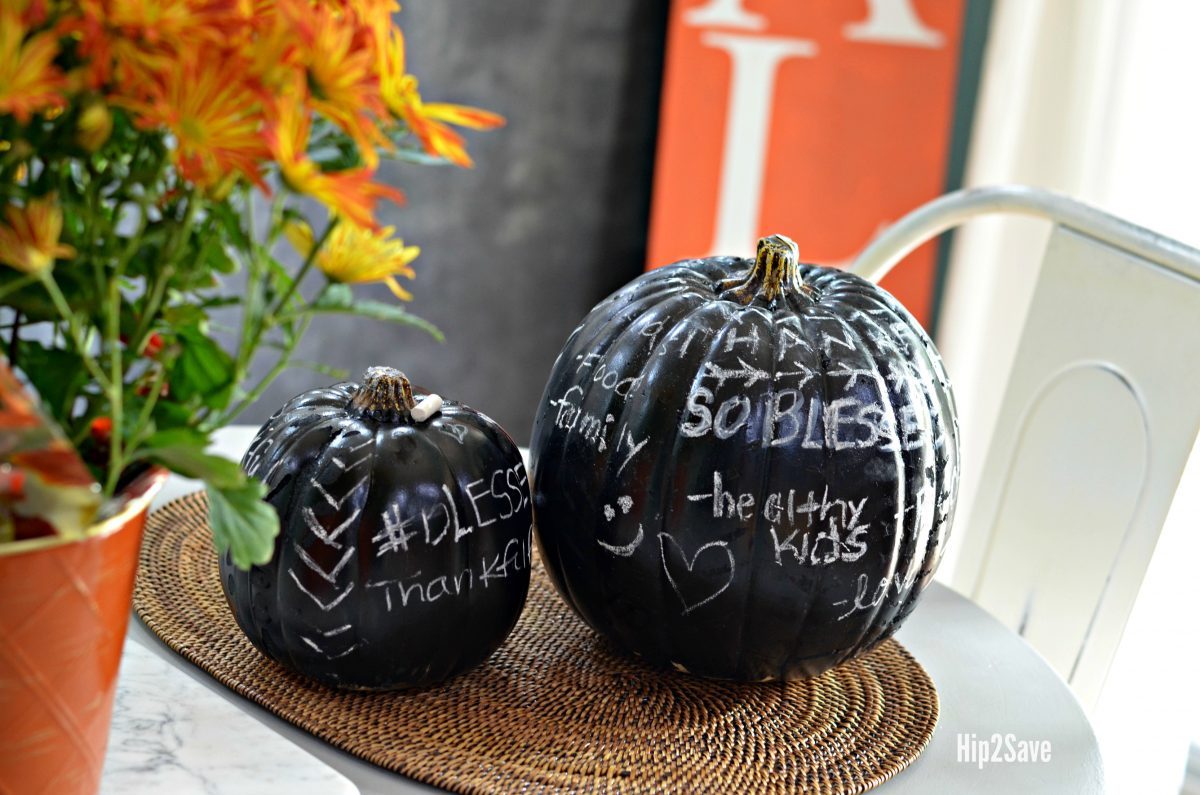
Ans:
{"label": "bright white wall and curtain area behind the metal chair", "polygon": [[[1200,2],[1187,0],[996,0],[967,184],[1048,187],[1200,246],[1196,30]],[[970,515],[1046,233],[989,220],[956,239],[938,343],[962,423],[959,516]],[[1200,728],[1187,676],[1200,617],[1189,570],[1200,500],[1189,492],[1200,494],[1196,454],[1093,715],[1111,791],[1178,791]]]}

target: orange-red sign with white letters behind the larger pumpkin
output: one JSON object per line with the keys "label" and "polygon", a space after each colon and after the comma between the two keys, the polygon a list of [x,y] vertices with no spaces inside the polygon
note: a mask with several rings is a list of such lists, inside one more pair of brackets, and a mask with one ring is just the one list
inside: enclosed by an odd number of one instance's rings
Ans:
{"label": "orange-red sign with white letters behind the larger pumpkin", "polygon": [[[966,0],[676,0],[649,265],[780,233],[845,265],[946,189]],[[928,325],[936,249],[883,282]]]}

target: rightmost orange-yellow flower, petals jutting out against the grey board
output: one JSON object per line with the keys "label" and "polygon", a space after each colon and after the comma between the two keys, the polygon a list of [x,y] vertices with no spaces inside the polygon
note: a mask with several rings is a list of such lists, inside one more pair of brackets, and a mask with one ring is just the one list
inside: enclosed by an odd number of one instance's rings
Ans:
{"label": "rightmost orange-yellow flower, petals jutting out against the grey board", "polygon": [[391,34],[380,55],[382,90],[388,109],[408,125],[425,151],[456,166],[472,167],[474,162],[467,154],[466,142],[449,125],[491,130],[502,126],[504,116],[464,104],[425,103],[416,78],[404,71],[404,37],[400,30]]}

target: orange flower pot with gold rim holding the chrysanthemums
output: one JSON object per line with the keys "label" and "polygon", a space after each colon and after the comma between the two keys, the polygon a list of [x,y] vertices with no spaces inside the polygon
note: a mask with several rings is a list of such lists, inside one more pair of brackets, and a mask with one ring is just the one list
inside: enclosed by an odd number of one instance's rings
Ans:
{"label": "orange flower pot with gold rim holding the chrysanthemums", "polygon": [[95,793],[151,470],[88,536],[0,545],[0,793]]}

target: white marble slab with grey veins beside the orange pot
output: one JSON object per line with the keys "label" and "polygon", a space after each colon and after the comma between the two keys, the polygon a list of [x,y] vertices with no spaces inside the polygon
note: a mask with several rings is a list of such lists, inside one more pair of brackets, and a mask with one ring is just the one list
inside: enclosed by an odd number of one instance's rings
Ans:
{"label": "white marble slab with grey veins beside the orange pot", "polygon": [[359,791],[132,638],[121,658],[100,789],[104,795]]}

